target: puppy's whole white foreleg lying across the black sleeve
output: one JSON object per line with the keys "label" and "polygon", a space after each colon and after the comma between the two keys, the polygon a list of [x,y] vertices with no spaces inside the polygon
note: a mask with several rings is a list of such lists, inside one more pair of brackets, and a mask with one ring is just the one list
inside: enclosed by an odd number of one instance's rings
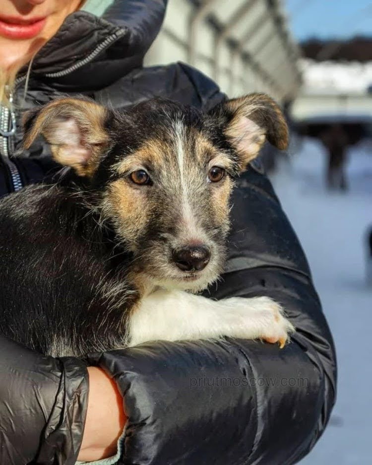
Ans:
{"label": "puppy's whole white foreleg lying across the black sleeve", "polygon": [[144,297],[129,321],[129,345],[150,340],[288,338],[294,331],[282,308],[269,297],[220,301],[177,290]]}

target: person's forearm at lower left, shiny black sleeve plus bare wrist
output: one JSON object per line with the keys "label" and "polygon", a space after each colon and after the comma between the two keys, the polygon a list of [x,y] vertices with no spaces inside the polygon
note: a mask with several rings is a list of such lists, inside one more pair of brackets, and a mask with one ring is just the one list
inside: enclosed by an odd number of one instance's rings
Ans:
{"label": "person's forearm at lower left, shiny black sleeve plus bare wrist", "polygon": [[0,464],[72,465],[116,454],[126,418],[104,371],[1,335],[0,354]]}

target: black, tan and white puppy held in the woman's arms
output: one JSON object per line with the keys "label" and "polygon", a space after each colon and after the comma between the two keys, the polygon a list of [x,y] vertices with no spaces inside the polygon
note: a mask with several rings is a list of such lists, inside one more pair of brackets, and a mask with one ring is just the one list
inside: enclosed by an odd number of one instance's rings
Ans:
{"label": "black, tan and white puppy held in the woman's arms", "polygon": [[294,329],[270,298],[190,293],[223,270],[234,178],[266,138],[287,146],[273,100],[251,94],[203,114],[162,99],[118,112],[65,98],[29,115],[24,145],[40,134],[72,170],[0,202],[0,332],[54,356],[155,339],[284,345]]}

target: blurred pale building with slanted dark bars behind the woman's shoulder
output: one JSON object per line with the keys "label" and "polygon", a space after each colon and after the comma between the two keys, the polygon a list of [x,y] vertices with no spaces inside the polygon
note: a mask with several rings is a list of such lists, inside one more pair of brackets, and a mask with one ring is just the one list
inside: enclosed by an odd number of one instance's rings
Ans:
{"label": "blurred pale building with slanted dark bars behind the woman's shoulder", "polygon": [[[89,0],[101,14],[109,0]],[[267,92],[293,100],[301,86],[299,47],[281,0],[169,0],[146,66],[182,61],[213,78],[229,96]]]}

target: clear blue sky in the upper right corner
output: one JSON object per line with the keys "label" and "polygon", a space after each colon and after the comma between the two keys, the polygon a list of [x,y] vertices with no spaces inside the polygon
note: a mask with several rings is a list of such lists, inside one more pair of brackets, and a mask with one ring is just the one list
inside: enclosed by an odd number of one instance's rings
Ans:
{"label": "clear blue sky in the upper right corner", "polygon": [[284,4],[298,40],[372,36],[371,0],[284,0]]}

